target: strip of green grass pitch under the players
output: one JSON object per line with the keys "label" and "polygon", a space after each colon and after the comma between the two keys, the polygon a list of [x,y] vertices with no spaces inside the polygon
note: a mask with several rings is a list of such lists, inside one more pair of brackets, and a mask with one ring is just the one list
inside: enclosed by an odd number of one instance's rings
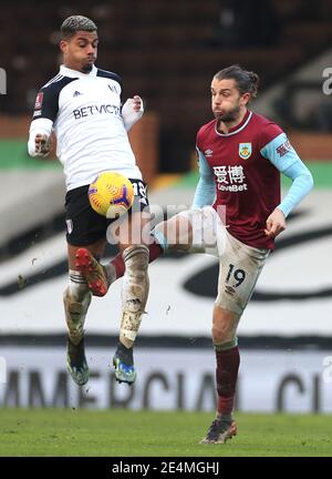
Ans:
{"label": "strip of green grass pitch under the players", "polygon": [[0,409],[0,456],[332,456],[332,416],[237,414],[238,436],[199,445],[207,412]]}

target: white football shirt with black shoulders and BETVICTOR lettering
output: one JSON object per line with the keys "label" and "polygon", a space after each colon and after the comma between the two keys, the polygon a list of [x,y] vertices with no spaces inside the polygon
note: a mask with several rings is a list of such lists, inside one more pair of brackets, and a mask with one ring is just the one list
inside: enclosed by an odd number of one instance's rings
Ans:
{"label": "white football shirt with black shoulders and BETVICTOR lettering", "polygon": [[66,190],[90,184],[103,171],[142,180],[122,116],[122,81],[93,67],[81,73],[61,65],[38,93],[30,137],[56,136]]}

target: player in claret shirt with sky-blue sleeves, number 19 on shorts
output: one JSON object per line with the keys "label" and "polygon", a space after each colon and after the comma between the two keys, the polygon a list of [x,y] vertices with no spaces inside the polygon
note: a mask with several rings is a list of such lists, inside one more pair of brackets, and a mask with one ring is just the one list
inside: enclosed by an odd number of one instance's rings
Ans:
{"label": "player in claret shirt with sky-blue sleeves, number 19 on shorts", "polygon": [[[258,75],[239,65],[215,74],[215,119],[197,134],[199,182],[191,208],[155,227],[149,259],[167,248],[209,253],[219,258],[218,294],[212,313],[217,414],[204,444],[237,434],[232,418],[240,356],[237,327],[274,238],[289,213],[309,193],[312,175],[272,121],[252,112]],[[292,180],[281,201],[280,172]],[[170,244],[170,238],[175,238]],[[123,274],[121,256],[113,278]]]}

